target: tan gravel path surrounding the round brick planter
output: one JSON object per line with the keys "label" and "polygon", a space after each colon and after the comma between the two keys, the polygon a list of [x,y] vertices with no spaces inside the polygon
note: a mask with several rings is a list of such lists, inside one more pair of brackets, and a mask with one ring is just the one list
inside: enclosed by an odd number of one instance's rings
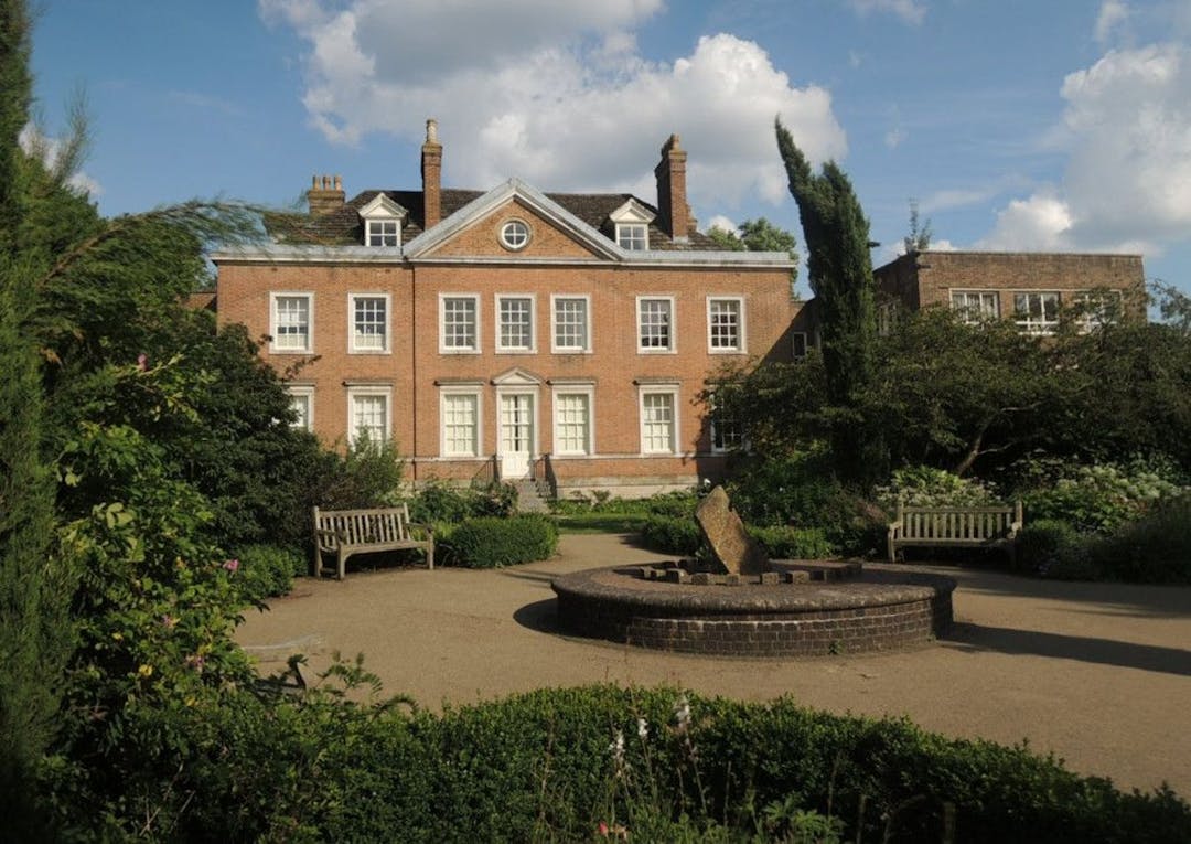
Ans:
{"label": "tan gravel path surrounding the round brick planter", "polygon": [[1191,798],[1191,588],[923,567],[959,582],[954,633],[866,656],[734,660],[553,632],[554,575],[660,559],[625,536],[565,535],[557,557],[515,569],[303,578],[252,613],[237,639],[266,672],[293,652],[314,671],[335,651],[363,652],[386,693],[426,706],[594,682],[746,700],[788,694],[833,712],[906,714],[949,736],[1028,740],[1120,787],[1166,781]]}

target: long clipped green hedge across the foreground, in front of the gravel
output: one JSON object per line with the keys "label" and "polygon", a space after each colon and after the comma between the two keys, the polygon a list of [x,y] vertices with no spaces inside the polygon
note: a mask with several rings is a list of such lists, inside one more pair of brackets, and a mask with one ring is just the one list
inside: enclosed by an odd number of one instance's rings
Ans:
{"label": "long clipped green hedge across the foreground, in front of the gravel", "polygon": [[794,840],[799,813],[830,813],[844,840],[930,842],[948,805],[955,840],[978,844],[1191,840],[1170,790],[788,699],[603,685],[434,715],[241,696],[185,713],[208,752],[129,783],[127,806],[195,840],[590,840],[600,824],[630,840]]}

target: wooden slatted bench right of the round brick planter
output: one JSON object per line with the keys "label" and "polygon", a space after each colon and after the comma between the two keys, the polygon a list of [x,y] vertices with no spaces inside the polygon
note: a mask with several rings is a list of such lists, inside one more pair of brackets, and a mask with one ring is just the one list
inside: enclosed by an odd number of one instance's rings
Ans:
{"label": "wooden slatted bench right of the round brick planter", "polygon": [[1004,547],[1015,556],[1022,529],[1022,502],[989,507],[906,507],[897,505],[897,520],[890,522],[890,563],[898,548],[908,545],[943,548]]}

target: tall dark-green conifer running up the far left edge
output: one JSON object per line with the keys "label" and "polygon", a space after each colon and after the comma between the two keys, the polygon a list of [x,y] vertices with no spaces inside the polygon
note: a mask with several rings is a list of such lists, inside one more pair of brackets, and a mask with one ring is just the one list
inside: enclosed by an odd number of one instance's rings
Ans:
{"label": "tall dark-green conifer running up the far left edge", "polygon": [[39,356],[27,330],[39,259],[18,236],[27,207],[18,138],[29,119],[29,51],[25,4],[0,0],[0,793],[5,827],[19,840],[50,836],[37,776],[71,641],[69,592],[51,553],[55,479],[42,459]]}

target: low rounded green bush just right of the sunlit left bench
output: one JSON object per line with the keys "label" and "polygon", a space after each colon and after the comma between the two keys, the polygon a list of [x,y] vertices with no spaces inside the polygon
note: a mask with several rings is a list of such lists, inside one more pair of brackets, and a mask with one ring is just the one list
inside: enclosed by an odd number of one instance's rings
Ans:
{"label": "low rounded green bush just right of the sunlit left bench", "polygon": [[442,544],[451,565],[494,569],[547,559],[559,546],[559,528],[534,513],[507,519],[481,516],[463,521]]}

